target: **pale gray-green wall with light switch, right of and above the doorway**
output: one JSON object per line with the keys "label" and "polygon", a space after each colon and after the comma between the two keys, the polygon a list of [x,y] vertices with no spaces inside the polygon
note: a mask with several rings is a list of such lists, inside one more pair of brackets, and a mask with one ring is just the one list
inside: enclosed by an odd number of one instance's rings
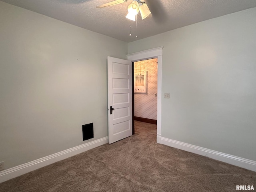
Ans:
{"label": "pale gray-green wall with light switch, right of and above the doorway", "polygon": [[129,43],[128,53],[159,46],[162,136],[255,161],[256,8]]}

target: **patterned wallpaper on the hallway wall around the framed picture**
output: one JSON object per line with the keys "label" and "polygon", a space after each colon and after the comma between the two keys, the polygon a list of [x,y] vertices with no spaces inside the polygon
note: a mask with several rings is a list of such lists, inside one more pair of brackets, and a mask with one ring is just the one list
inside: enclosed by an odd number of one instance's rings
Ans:
{"label": "patterned wallpaper on the hallway wall around the framed picture", "polygon": [[157,58],[134,62],[134,73],[148,71],[147,93],[134,93],[134,116],[157,120]]}

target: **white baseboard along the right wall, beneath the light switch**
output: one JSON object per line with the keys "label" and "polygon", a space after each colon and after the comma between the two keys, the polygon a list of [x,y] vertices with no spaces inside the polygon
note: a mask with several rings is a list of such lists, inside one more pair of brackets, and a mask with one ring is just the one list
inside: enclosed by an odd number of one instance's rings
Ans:
{"label": "white baseboard along the right wall, beneath the light switch", "polygon": [[161,137],[160,143],[170,147],[192,152],[198,155],[206,156],[206,157],[219,160],[228,164],[232,164],[238,167],[242,167],[248,170],[256,171],[256,161],[253,161],[253,160],[233,156],[230,154],[225,154],[222,152],[210,150],[207,148],[202,148],[199,146],[183,143],[180,141],[176,141],[176,140],[172,140],[164,137]]}

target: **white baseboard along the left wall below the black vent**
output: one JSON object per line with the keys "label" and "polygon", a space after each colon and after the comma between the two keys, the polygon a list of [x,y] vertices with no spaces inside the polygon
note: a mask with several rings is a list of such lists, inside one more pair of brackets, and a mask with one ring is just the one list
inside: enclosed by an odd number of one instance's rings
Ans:
{"label": "white baseboard along the left wall below the black vent", "polygon": [[71,156],[96,148],[106,143],[108,143],[108,137],[97,139],[95,141],[88,142],[86,144],[82,144],[82,145],[79,145],[79,146],[46,156],[46,157],[40,158],[38,160],[34,160],[31,162],[7,169],[7,170],[0,171],[0,183],[7,181],[9,179],[18,177],[30,171],[34,171],[46,165],[50,165],[60,160],[64,160]]}

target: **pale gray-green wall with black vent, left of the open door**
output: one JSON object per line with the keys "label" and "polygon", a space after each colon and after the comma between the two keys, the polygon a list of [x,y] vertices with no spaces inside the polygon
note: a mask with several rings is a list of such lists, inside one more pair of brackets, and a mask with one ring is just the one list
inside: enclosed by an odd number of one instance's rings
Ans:
{"label": "pale gray-green wall with black vent, left of the open door", "polygon": [[108,136],[107,56],[127,43],[0,1],[0,161],[11,168]]}

